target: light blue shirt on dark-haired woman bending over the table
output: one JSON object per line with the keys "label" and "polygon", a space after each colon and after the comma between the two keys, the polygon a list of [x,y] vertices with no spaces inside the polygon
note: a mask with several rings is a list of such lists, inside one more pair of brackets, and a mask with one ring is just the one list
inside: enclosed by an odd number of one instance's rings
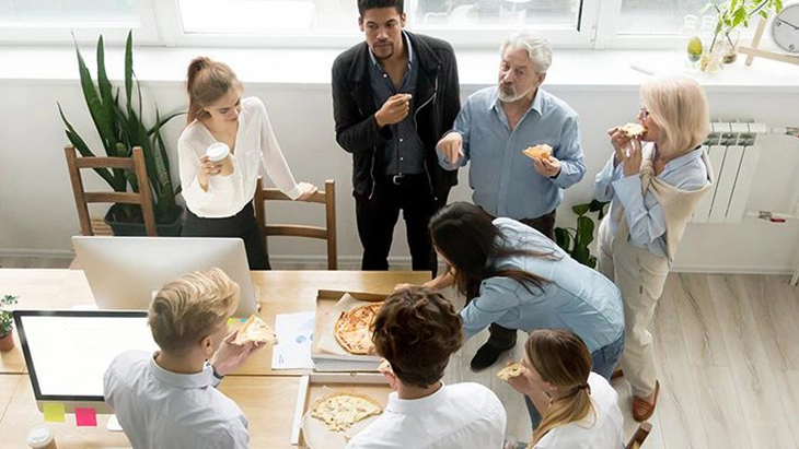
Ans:
{"label": "light blue shirt on dark-haired woman bending over the table", "polygon": [[552,253],[554,258],[511,256],[494,262],[500,269],[518,269],[547,280],[543,292],[510,277],[489,277],[479,296],[461,310],[466,339],[496,322],[508,329],[571,329],[590,352],[600,350],[624,332],[624,309],[618,288],[599,272],[580,264],[540,232],[510,218],[494,225],[505,245]]}

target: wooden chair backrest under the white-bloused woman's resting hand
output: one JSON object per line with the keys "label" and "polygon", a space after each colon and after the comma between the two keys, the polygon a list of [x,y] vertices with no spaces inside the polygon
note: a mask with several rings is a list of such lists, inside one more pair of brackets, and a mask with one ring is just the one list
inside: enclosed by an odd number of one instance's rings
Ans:
{"label": "wooden chair backrest under the white-bloused woman's resting hand", "polygon": [[291,201],[283,192],[275,188],[264,188],[258,179],[255,188],[255,216],[266,237],[291,236],[327,240],[327,269],[338,269],[338,239],[336,237],[336,181],[325,181],[325,190],[314,193],[306,202],[325,205],[325,227],[289,224],[266,224],[266,201]]}

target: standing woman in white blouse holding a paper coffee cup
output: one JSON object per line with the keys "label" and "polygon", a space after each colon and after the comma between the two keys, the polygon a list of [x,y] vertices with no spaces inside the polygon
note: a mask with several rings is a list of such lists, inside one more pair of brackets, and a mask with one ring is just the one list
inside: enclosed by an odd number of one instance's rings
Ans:
{"label": "standing woman in white blouse holding a paper coffee cup", "polygon": [[311,198],[316,187],[294,181],[264,103],[242,98],[243,85],[230,67],[195,58],[187,78],[188,125],[177,142],[188,209],[183,235],[242,238],[250,269],[269,270],[253,209],[257,179],[269,175],[292,200]]}

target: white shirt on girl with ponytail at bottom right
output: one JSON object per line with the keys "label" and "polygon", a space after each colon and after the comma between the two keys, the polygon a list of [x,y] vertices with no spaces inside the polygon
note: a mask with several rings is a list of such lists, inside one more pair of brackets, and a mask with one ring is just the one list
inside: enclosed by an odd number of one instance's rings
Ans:
{"label": "white shirt on girl with ponytail at bottom right", "polygon": [[[621,449],[624,417],[618,409],[616,390],[597,373],[588,377],[591,402],[595,411],[581,421],[549,430],[535,449]],[[594,422],[595,417],[595,422]]]}

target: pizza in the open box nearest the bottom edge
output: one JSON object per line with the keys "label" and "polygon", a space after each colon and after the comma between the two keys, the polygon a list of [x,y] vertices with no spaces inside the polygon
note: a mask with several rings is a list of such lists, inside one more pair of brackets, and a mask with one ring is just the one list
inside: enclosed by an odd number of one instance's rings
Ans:
{"label": "pizza in the open box nearest the bottom edge", "polygon": [[317,399],[311,405],[311,416],[321,420],[332,432],[343,432],[369,416],[383,413],[378,401],[366,395],[336,392]]}

